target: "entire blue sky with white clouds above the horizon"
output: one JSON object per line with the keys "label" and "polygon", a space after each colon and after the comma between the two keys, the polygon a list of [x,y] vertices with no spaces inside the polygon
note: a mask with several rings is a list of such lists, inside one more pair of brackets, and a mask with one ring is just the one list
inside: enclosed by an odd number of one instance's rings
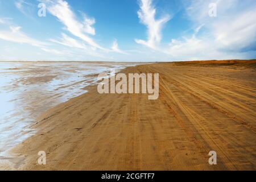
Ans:
{"label": "entire blue sky with white clouds above the horizon", "polygon": [[0,61],[255,58],[255,0],[0,0]]}

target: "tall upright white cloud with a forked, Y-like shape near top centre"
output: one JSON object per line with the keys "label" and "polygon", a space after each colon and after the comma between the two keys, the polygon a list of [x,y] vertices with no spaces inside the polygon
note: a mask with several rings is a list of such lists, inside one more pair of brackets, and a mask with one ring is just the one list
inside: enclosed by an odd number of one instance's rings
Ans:
{"label": "tall upright white cloud with a forked, Y-like shape near top centre", "polygon": [[165,15],[160,19],[155,19],[156,9],[152,5],[152,0],[140,0],[139,19],[147,27],[148,40],[138,40],[135,42],[144,46],[156,49],[156,44],[162,39],[161,31],[163,25],[170,20],[170,15]]}

